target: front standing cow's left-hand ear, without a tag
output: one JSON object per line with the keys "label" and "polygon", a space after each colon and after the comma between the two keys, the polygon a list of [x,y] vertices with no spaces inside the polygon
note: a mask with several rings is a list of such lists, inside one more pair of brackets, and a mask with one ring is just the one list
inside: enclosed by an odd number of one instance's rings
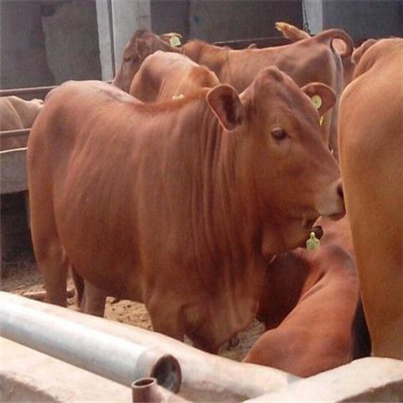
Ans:
{"label": "front standing cow's left-hand ear, without a tag", "polygon": [[218,85],[207,93],[207,103],[222,126],[231,131],[239,126],[244,117],[244,108],[235,88]]}

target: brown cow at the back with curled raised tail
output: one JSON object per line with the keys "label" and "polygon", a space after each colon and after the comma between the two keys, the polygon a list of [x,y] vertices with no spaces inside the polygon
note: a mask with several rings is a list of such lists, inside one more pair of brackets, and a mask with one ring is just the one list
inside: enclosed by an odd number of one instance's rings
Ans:
{"label": "brown cow at the back with curled raised tail", "polygon": [[[217,74],[222,83],[243,91],[257,73],[273,65],[287,73],[299,85],[320,82],[328,85],[337,97],[343,91],[343,68],[340,55],[333,48],[335,40],[343,40],[346,57],[353,51],[353,41],[343,30],[323,31],[289,45],[263,49],[223,49],[203,41],[189,41],[181,47],[184,54],[196,63],[206,65]],[[338,100],[332,111],[324,116],[323,136],[338,159],[337,114]]]}

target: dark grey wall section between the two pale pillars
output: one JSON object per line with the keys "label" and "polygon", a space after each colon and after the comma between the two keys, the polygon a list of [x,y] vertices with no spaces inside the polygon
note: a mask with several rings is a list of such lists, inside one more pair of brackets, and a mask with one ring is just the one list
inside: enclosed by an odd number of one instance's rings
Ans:
{"label": "dark grey wall section between the two pale pillars", "polygon": [[255,0],[151,0],[152,27],[157,33],[176,31],[184,39],[207,41],[278,36],[275,22],[302,26],[302,2]]}

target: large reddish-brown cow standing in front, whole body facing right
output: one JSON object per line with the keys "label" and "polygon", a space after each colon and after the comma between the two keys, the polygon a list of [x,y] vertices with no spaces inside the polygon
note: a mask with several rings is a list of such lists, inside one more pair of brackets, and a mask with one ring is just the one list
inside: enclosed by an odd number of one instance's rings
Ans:
{"label": "large reddish-brown cow standing in front, whole body facing right", "polygon": [[[304,91],[323,99],[323,84]],[[100,82],[53,90],[32,128],[32,238],[48,301],[66,273],[142,301],[156,331],[207,351],[254,317],[267,259],[344,213],[319,115],[276,68],[142,104]]]}

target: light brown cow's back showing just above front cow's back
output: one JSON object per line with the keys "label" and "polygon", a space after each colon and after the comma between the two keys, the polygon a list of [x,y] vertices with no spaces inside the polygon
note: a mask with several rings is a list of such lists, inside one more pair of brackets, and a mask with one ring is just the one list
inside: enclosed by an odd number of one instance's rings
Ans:
{"label": "light brown cow's back showing just above front cow's back", "polygon": [[129,93],[144,102],[167,101],[218,84],[217,76],[206,66],[183,54],[158,50],[144,60]]}

